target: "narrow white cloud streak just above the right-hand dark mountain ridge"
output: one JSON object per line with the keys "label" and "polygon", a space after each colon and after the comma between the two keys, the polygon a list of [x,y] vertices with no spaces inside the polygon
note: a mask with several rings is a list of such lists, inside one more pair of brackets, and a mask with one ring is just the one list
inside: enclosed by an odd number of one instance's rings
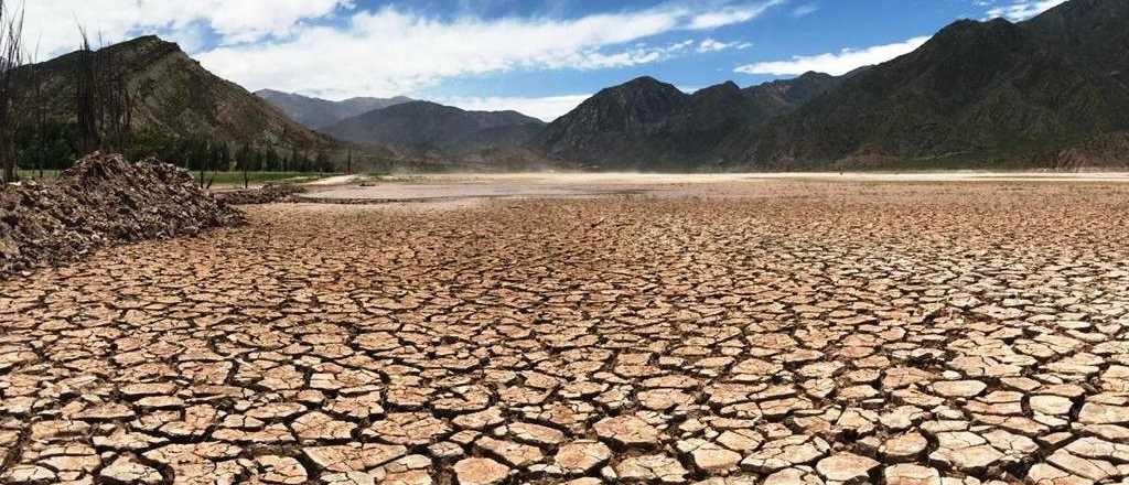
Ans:
{"label": "narrow white cloud streak just above the right-hand dark mountain ridge", "polygon": [[843,48],[838,53],[797,55],[788,61],[758,62],[742,65],[736,72],[746,74],[798,76],[808,71],[842,76],[865,65],[881,64],[891,59],[913,52],[929,37],[913,37],[895,44],[875,45],[855,50]]}

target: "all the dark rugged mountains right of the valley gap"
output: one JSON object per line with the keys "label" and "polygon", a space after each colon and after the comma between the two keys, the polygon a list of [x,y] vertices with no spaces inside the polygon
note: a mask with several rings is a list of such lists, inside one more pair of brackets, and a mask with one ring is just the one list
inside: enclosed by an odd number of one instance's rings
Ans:
{"label": "all the dark rugged mountains right of the valley gap", "polygon": [[1127,25],[1124,0],[1071,0],[1018,24],[956,21],[839,78],[693,95],[641,78],[601,91],[530,147],[645,169],[1126,164]]}

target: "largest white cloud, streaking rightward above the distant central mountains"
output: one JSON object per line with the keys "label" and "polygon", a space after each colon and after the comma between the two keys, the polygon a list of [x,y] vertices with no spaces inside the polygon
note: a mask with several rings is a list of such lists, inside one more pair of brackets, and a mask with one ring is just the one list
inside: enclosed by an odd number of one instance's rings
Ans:
{"label": "largest white cloud, streaking rightward above the distant central mountains", "polygon": [[[285,39],[225,46],[199,55],[248,89],[326,98],[411,94],[444,79],[518,69],[604,69],[658,62],[690,44],[639,45],[658,34],[747,21],[780,0],[716,10],[665,5],[589,15],[452,20],[396,8],[357,11],[342,27],[298,25]],[[685,45],[683,45],[685,44]]]}

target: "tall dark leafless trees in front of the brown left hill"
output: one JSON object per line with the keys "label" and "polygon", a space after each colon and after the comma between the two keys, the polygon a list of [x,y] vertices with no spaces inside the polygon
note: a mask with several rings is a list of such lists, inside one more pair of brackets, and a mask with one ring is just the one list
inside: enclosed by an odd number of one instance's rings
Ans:
{"label": "tall dark leafless trees in front of the brown left hill", "polygon": [[75,72],[75,112],[78,115],[78,148],[124,152],[132,142],[133,97],[124,65],[112,48],[94,50],[90,37],[79,26],[81,45]]}

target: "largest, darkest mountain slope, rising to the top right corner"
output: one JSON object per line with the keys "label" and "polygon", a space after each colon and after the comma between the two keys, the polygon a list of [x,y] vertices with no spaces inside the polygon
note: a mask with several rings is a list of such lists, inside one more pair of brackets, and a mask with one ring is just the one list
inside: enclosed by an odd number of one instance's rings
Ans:
{"label": "largest, darkest mountain slope, rising to the top right corner", "polygon": [[[1076,30],[1092,32],[1091,23],[1045,19],[1113,3],[1076,0],[1022,24],[955,23],[916,52],[744,131],[725,155],[779,168],[905,160],[1054,165],[1061,150],[1129,127],[1129,89],[1118,79],[1119,65],[1129,64],[1114,59],[1120,53],[1067,41]],[[1129,16],[1120,18],[1129,25]]]}

